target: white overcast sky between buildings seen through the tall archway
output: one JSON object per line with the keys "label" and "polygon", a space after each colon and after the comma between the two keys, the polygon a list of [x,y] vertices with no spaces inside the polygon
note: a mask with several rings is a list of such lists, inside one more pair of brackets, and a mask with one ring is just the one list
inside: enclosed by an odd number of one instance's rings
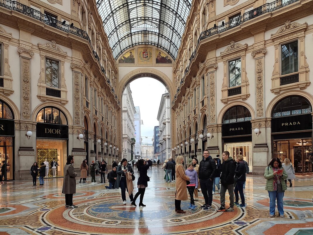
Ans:
{"label": "white overcast sky between buildings seen through the tall archway", "polygon": [[152,144],[153,129],[159,125],[157,113],[159,111],[162,94],[165,93],[165,86],[154,78],[142,77],[130,83],[131,95],[134,105],[139,106],[141,120],[142,143]]}

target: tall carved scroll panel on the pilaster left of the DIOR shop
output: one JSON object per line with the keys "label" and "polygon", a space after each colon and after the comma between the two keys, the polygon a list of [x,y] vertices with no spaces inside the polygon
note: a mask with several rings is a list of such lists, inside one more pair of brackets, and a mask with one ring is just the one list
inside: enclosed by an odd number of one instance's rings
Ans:
{"label": "tall carved scroll panel on the pilaster left of the DIOR shop", "polygon": [[21,58],[22,66],[22,118],[30,119],[30,60]]}

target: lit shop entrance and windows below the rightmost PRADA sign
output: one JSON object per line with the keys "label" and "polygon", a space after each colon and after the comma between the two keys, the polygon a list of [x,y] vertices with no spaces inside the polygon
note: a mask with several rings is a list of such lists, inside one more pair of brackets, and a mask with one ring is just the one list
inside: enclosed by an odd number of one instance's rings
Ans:
{"label": "lit shop entrance and windows below the rightmost PRADA sign", "polygon": [[282,162],[288,158],[293,163],[295,172],[312,172],[312,138],[273,141],[274,157]]}

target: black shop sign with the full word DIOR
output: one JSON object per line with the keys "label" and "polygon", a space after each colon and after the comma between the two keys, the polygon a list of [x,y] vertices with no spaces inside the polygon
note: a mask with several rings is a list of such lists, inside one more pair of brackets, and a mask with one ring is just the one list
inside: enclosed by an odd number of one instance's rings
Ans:
{"label": "black shop sign with the full word DIOR", "polygon": [[48,139],[68,139],[69,127],[50,123],[37,123],[36,137]]}

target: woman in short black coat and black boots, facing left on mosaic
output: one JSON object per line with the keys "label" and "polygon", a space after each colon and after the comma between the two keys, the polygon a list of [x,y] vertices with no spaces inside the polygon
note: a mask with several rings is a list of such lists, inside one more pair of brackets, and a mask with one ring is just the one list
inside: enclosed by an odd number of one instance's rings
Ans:
{"label": "woman in short black coat and black boots, facing left on mosaic", "polygon": [[143,196],[145,195],[146,187],[148,187],[148,181],[150,181],[150,178],[147,175],[149,167],[150,167],[149,163],[146,162],[144,159],[139,159],[137,161],[137,168],[139,170],[139,178],[137,182],[138,192],[136,193],[134,200],[131,202],[131,205],[133,206],[137,206],[136,199],[139,195],[140,195],[139,206],[146,206],[142,203],[142,200]]}

